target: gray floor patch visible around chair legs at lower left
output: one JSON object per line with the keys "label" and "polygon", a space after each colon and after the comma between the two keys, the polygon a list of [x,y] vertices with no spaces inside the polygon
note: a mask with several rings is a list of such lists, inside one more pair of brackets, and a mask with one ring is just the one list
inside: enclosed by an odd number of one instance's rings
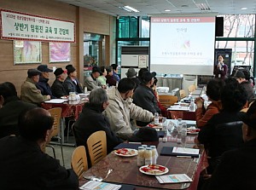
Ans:
{"label": "gray floor patch visible around chair legs at lower left", "polygon": [[[65,140],[67,141],[67,140]],[[72,146],[62,146],[63,147],[63,156],[64,156],[64,166],[67,169],[71,168],[71,157],[72,157],[72,153],[73,150],[75,149],[75,141],[73,136],[70,137],[69,139],[69,144],[73,144]],[[51,144],[53,147],[55,147],[55,154],[56,154],[56,159],[60,160],[60,164],[63,165],[62,162],[62,158],[61,158],[61,146],[60,145],[55,145],[55,144]],[[49,154],[49,156],[54,157],[53,151],[50,147],[46,147],[46,153]]]}

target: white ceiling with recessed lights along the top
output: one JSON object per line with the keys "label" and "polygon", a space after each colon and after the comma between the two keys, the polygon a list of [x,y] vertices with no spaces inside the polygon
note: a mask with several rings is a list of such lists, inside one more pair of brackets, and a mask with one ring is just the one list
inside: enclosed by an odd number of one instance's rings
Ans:
{"label": "white ceiling with recessed lights along the top", "polygon": [[[169,14],[256,14],[256,0],[55,0],[113,16]],[[203,3],[207,9],[201,9]],[[129,5],[139,13],[127,12]],[[241,8],[247,8],[242,10]],[[165,10],[169,9],[170,12]]]}

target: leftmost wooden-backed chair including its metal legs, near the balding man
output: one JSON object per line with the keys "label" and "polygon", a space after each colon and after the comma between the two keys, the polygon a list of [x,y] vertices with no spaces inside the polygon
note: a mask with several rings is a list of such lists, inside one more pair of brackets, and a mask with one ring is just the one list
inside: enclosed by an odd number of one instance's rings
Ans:
{"label": "leftmost wooden-backed chair including its metal legs, near the balding man", "polygon": [[[64,156],[63,156],[63,148],[62,148],[62,141],[61,141],[61,136],[59,136],[62,109],[61,109],[61,107],[54,107],[52,109],[49,109],[48,112],[50,113],[51,117],[54,118],[54,124],[53,124],[53,131],[51,133],[51,136],[48,139],[48,141],[46,142],[46,147],[51,147],[52,148],[52,151],[54,153],[54,157],[56,158],[55,147],[49,145],[49,142],[52,139],[52,137],[55,137],[55,138],[59,139],[60,142],[61,142],[61,156],[62,156],[63,166],[65,166]],[[45,147],[43,148],[43,151],[45,153]]]}

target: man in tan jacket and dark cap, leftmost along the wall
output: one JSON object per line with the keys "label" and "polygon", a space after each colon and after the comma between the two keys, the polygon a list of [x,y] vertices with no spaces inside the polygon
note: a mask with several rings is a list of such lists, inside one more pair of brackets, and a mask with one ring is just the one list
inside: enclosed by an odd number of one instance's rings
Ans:
{"label": "man in tan jacket and dark cap, leftmost along the wall", "polygon": [[42,95],[41,90],[36,87],[39,82],[41,72],[37,69],[29,69],[27,71],[27,78],[21,85],[20,97],[21,101],[29,103],[40,104],[43,101],[49,101],[50,95]]}

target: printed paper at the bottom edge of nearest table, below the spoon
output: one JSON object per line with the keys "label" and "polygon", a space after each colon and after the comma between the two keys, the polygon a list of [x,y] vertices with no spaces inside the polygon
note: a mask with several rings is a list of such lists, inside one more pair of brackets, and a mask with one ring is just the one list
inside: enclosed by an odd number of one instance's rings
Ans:
{"label": "printed paper at the bottom edge of nearest table, below the spoon", "polygon": [[121,185],[115,185],[107,182],[99,181],[88,181],[80,189],[82,190],[118,190],[121,188]]}

